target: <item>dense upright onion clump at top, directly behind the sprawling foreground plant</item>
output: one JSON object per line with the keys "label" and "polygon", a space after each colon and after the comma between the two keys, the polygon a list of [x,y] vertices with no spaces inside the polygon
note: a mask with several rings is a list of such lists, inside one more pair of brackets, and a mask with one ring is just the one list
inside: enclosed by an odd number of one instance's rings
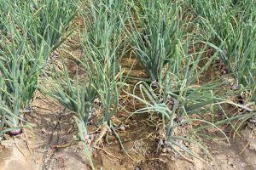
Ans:
{"label": "dense upright onion clump at top, directly behind the sprawling foreground plant", "polygon": [[165,65],[174,58],[177,39],[183,37],[179,1],[135,1],[129,20],[131,46],[151,81],[160,81]]}

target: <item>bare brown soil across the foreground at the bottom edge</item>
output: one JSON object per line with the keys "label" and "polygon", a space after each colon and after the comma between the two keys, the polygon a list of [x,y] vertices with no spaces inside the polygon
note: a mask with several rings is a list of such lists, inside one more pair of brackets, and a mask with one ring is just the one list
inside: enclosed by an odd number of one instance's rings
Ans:
{"label": "bare brown soil across the foreground at the bottom edge", "polygon": [[[38,94],[38,96],[40,96]],[[40,106],[39,106],[40,105]],[[76,132],[72,116],[63,111],[55,102],[38,97],[33,102],[34,111],[27,115],[33,130],[14,138],[1,140],[0,169],[90,169],[84,156],[82,144],[75,143],[65,148],[55,145],[67,144]],[[47,109],[51,108],[51,110]],[[53,109],[54,108],[54,109]],[[213,161],[204,163],[196,160],[190,163],[175,155],[172,150],[157,151],[158,129],[154,119],[148,115],[132,116],[125,123],[125,129],[119,131],[125,150],[129,156],[119,149],[119,144],[109,136],[98,149],[90,150],[96,169],[104,170],[250,170],[256,169],[255,137],[256,132],[247,126],[241,130],[241,137],[230,140],[230,145],[218,137],[207,141],[212,150]],[[73,127],[73,129],[71,129]],[[8,137],[6,137],[8,138]],[[246,148],[245,148],[246,147]],[[29,148],[29,149],[28,149]],[[31,152],[30,152],[31,150]]]}

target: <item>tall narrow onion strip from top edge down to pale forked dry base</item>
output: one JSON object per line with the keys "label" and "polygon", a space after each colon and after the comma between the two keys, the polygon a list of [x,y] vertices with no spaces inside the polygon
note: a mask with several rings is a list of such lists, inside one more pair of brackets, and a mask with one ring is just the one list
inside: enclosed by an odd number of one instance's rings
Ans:
{"label": "tall narrow onion strip from top edge down to pale forked dry base", "polygon": [[88,11],[90,20],[86,27],[83,51],[90,59],[93,70],[101,71],[102,75],[95,83],[102,104],[102,117],[98,121],[102,130],[97,144],[110,129],[118,137],[111,118],[118,109],[119,92],[123,86],[118,61],[125,54],[124,23],[129,17],[130,8],[123,1],[101,0],[90,2]]}

